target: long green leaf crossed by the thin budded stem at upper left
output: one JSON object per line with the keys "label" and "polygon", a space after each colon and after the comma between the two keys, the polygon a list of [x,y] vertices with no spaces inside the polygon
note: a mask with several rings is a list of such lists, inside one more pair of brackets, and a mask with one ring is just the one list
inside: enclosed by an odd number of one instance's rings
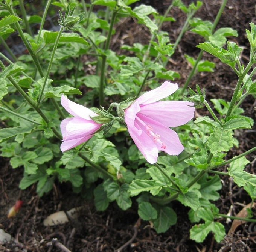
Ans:
{"label": "long green leaf crossed by the thin budded stem at upper left", "polygon": [[[55,43],[58,36],[58,31],[42,31],[42,36],[44,38],[44,43],[46,45],[50,43]],[[83,45],[89,45],[89,43],[77,33],[62,33],[59,42],[72,42],[72,43],[81,43]]]}

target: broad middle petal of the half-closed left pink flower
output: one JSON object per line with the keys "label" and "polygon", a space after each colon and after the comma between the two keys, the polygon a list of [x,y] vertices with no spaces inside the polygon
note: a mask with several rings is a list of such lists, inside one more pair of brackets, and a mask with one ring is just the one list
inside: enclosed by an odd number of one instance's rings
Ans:
{"label": "broad middle petal of the half-closed left pink flower", "polygon": [[[61,123],[61,132],[64,141],[91,135],[102,125],[93,120],[85,120],[80,117],[67,118],[63,121],[64,122]],[[66,131],[63,130],[64,127],[66,127]]]}

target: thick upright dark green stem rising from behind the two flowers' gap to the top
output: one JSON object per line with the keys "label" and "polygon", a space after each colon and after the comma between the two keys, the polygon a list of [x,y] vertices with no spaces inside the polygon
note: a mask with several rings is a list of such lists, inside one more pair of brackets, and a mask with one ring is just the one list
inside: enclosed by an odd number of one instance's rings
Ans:
{"label": "thick upright dark green stem rising from behind the two flowers' gap to the top", "polygon": [[[111,39],[111,35],[112,35],[112,30],[113,30],[113,25],[114,25],[114,21],[116,19],[117,12],[118,12],[118,9],[114,8],[113,13],[112,13],[112,17],[111,17],[110,27],[109,27],[109,30],[108,30],[107,41],[106,41],[105,47],[104,47],[104,51],[107,51],[109,49],[110,39]],[[104,96],[103,91],[104,91],[104,82],[105,82],[106,60],[107,60],[107,56],[102,55],[101,77],[100,77],[100,85],[99,85],[99,105],[100,106],[103,105],[103,96]]]}

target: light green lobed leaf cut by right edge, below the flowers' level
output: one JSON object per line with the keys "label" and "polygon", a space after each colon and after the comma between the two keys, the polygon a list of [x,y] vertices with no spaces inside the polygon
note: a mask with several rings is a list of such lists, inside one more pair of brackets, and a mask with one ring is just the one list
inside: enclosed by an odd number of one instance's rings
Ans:
{"label": "light green lobed leaf cut by right edge, below the flowers' level", "polygon": [[240,157],[230,163],[230,167],[227,168],[229,175],[233,177],[234,182],[238,186],[245,186],[246,183],[256,186],[256,175],[250,174],[244,171],[245,165],[250,163],[245,157]]}

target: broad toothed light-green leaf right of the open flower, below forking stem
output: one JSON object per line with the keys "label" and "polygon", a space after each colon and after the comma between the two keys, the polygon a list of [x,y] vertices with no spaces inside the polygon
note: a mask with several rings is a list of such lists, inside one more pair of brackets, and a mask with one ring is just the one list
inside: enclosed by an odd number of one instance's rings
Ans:
{"label": "broad toothed light-green leaf right of the open flower, below forking stem", "polygon": [[221,151],[229,151],[233,146],[232,131],[223,128],[215,128],[208,138],[208,146],[213,156],[218,156]]}

